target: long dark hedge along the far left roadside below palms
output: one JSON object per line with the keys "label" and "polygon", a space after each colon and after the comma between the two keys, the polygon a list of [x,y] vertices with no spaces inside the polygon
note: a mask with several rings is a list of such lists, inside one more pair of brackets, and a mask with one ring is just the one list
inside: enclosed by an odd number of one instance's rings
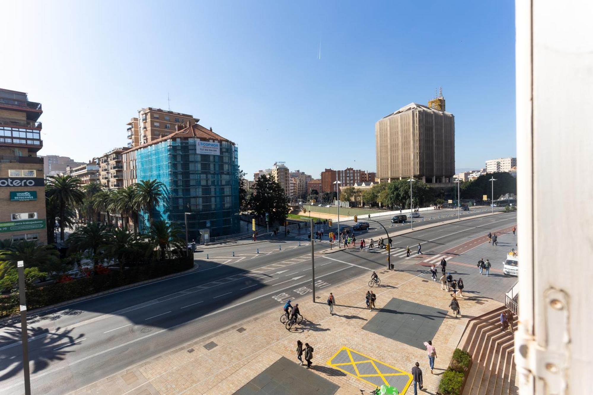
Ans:
{"label": "long dark hedge along the far left roadside below palms", "polygon": [[[173,273],[183,272],[193,267],[193,257],[167,259],[162,262],[130,267],[123,272],[115,271],[93,277],[74,279],[39,288],[27,289],[27,308],[33,310],[52,304],[107,291],[119,286],[160,278]],[[18,291],[0,299],[0,317],[18,312]]]}

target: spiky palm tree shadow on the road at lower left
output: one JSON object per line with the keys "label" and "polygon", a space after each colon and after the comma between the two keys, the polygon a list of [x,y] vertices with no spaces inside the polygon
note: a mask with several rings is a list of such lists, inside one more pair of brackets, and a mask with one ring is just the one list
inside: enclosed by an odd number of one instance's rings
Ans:
{"label": "spiky palm tree shadow on the road at lower left", "polygon": [[[0,348],[2,346],[14,344],[11,348],[20,349],[21,346],[21,328],[20,326],[7,326],[5,332],[0,335]],[[50,363],[63,361],[68,353],[68,348],[74,346],[76,341],[84,338],[84,333],[72,336],[72,330],[69,329],[60,332],[60,328],[50,332],[47,328],[29,327],[28,328],[28,346],[29,358],[33,362],[31,374],[42,371]],[[8,370],[7,370],[8,369]],[[20,374],[23,369],[23,359],[14,358],[14,353],[0,353],[0,371],[5,371],[0,375],[0,381],[7,380],[14,375]]]}

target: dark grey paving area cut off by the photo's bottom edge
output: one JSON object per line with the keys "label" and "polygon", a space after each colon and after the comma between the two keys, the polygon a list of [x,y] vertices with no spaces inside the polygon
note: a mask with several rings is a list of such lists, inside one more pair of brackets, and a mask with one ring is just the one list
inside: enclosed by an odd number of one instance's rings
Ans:
{"label": "dark grey paving area cut off by the photo's bottom edge", "polygon": [[338,388],[337,384],[282,357],[239,388],[235,395],[333,395]]}

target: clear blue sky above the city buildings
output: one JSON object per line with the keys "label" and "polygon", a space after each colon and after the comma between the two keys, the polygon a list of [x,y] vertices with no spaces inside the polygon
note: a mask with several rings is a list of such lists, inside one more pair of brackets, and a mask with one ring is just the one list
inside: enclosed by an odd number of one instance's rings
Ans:
{"label": "clear blue sky above the city buildings", "polygon": [[457,169],[515,156],[510,0],[13,1],[0,14],[15,33],[0,87],[42,102],[42,155],[125,146],[130,117],[168,94],[238,144],[248,178],[275,161],[374,171],[375,122],[442,87]]}

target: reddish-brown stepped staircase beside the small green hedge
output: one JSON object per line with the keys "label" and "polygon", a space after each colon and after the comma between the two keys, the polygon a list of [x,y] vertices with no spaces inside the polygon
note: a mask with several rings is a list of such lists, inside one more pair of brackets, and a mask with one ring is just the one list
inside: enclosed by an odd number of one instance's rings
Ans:
{"label": "reddish-brown stepped staircase beside the small green hedge", "polygon": [[[500,329],[499,307],[472,318],[460,341],[461,349],[471,355],[471,368],[463,395],[517,395],[514,363],[514,334]],[[517,317],[513,317],[514,329]]]}

